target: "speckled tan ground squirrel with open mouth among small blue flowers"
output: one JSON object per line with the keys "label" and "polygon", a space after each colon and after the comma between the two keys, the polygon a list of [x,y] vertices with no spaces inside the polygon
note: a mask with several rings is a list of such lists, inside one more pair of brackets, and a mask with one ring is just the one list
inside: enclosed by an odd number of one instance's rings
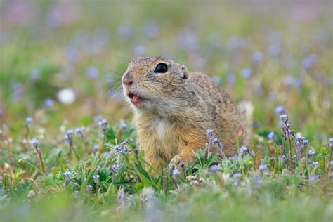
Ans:
{"label": "speckled tan ground squirrel with open mouth among small blue flowers", "polygon": [[157,169],[169,162],[194,162],[194,151],[207,143],[207,129],[214,129],[213,135],[221,138],[226,156],[237,152],[239,126],[244,128],[242,143],[249,143],[244,117],[206,74],[188,72],[166,58],[138,57],[129,63],[122,84],[134,110],[140,148]]}

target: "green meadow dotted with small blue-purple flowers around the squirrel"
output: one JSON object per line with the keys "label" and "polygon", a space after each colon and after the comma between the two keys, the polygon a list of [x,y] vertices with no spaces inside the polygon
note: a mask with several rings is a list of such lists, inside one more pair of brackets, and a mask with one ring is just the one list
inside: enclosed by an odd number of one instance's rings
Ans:
{"label": "green meadow dotted with small blue-purple flowers around the squirrel", "polygon": [[[0,1],[0,221],[333,221],[332,8]],[[252,145],[146,163],[120,81],[145,55],[251,101]]]}

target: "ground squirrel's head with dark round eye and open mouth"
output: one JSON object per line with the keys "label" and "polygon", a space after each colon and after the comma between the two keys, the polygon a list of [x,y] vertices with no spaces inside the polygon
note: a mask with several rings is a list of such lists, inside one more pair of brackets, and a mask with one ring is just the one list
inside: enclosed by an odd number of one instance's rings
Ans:
{"label": "ground squirrel's head with dark round eye and open mouth", "polygon": [[185,66],[173,60],[133,58],[122,77],[124,95],[135,109],[168,112],[185,97],[188,74]]}

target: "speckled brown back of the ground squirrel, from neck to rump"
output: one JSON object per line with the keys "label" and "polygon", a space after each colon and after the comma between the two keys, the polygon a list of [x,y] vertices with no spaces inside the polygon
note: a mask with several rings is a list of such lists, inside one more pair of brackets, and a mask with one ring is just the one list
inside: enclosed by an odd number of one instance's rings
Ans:
{"label": "speckled brown back of the ground squirrel, from neck to rump", "polygon": [[249,145],[250,123],[243,110],[237,110],[228,93],[206,74],[192,72],[189,79],[204,107],[204,114],[209,117],[205,125],[210,125],[209,128],[214,129],[216,136],[221,138],[226,155],[233,155],[237,151],[237,130],[240,126],[244,129],[242,144]]}

